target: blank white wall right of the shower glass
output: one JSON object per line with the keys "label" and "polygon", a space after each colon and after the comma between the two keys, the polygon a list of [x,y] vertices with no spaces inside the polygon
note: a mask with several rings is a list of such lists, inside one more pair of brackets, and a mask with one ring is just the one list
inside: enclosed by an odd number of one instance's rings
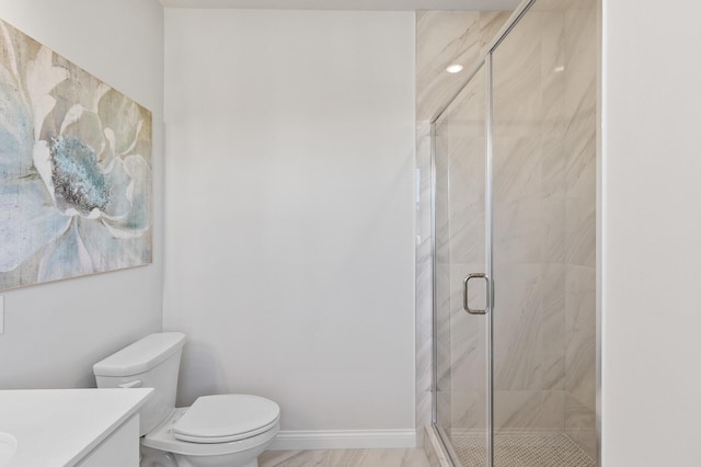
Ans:
{"label": "blank white wall right of the shower glass", "polygon": [[604,0],[604,466],[701,465],[701,3]]}

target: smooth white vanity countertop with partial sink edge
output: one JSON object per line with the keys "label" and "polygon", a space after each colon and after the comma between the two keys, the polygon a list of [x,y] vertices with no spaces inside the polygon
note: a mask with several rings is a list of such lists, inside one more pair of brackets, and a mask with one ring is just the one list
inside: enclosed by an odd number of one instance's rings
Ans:
{"label": "smooth white vanity countertop with partial sink edge", "polygon": [[73,466],[153,389],[0,390],[0,432],[18,440],[7,467]]}

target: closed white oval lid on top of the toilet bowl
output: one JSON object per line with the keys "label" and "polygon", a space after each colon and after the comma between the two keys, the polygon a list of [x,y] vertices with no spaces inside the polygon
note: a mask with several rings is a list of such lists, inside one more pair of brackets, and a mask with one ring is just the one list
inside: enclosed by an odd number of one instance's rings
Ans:
{"label": "closed white oval lid on top of the toilet bowl", "polygon": [[203,396],[175,422],[173,435],[193,443],[226,443],[264,433],[279,418],[278,405],[258,396]]}

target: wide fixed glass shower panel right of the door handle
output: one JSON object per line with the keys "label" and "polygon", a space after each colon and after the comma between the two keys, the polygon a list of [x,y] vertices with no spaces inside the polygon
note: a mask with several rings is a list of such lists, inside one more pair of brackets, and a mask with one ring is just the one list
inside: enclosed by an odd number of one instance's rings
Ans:
{"label": "wide fixed glass shower panel right of the door handle", "polygon": [[494,465],[594,467],[596,3],[492,54]]}

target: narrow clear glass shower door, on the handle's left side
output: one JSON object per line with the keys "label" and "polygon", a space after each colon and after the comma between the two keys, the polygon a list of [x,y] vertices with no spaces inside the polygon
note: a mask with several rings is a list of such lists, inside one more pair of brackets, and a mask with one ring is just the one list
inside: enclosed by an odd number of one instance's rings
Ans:
{"label": "narrow clear glass shower door, on the handle's left side", "polygon": [[[466,276],[485,272],[485,90],[482,67],[434,126],[435,420],[453,464],[466,467],[486,466],[489,440],[486,319],[463,309]],[[470,291],[470,307],[484,309],[484,281]]]}

